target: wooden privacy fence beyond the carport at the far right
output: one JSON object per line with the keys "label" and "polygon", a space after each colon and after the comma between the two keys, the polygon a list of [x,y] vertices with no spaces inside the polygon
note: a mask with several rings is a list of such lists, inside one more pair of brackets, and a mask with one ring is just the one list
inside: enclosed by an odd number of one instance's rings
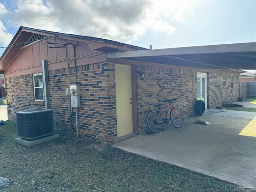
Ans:
{"label": "wooden privacy fence beyond the carport at the far right", "polygon": [[240,98],[256,97],[256,81],[240,82]]}

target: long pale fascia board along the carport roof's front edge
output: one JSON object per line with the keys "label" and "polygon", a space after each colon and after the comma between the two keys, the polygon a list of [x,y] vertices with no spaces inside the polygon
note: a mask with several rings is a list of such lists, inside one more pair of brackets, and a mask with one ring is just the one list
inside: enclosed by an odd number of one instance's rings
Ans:
{"label": "long pale fascia board along the carport roof's front edge", "polygon": [[230,52],[256,52],[256,42],[223,44],[209,46],[194,46],[182,48],[165,48],[154,50],[139,50],[130,52],[111,52],[108,58],[129,58],[146,56],[186,55],[186,54],[214,54]]}

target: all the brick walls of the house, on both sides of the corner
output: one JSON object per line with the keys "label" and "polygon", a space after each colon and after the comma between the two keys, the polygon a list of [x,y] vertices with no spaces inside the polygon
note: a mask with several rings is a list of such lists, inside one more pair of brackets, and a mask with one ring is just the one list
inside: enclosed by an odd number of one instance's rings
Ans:
{"label": "all the brick walls of the house, on both sides of the corner", "polygon": [[[145,77],[140,77],[140,72]],[[48,72],[50,106],[54,114],[54,128],[76,134],[76,120],[70,122],[70,102],[66,88],[74,83],[74,67]],[[239,76],[234,75],[234,89],[230,88],[231,75],[226,74],[226,87],[222,86],[222,74],[208,73],[209,108],[221,106],[223,101],[233,102],[239,95]],[[44,107],[43,102],[34,102],[33,75],[7,78],[8,119],[16,121],[17,111]],[[113,63],[97,63],[77,67],[77,84],[80,85],[81,107],[78,109],[79,134],[99,140],[103,144],[117,142],[116,90]],[[184,117],[194,114],[196,101],[196,71],[136,66],[136,94],[138,133],[146,126],[146,115],[164,100],[178,98],[173,103]],[[230,94],[231,93],[231,94]],[[228,95],[229,94],[229,95]],[[75,109],[72,109],[75,114]]]}

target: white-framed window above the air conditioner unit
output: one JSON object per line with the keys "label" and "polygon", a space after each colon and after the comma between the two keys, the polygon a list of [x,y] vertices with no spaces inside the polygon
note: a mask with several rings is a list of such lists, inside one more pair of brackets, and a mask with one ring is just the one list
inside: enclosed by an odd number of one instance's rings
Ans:
{"label": "white-framed window above the air conditioner unit", "polygon": [[35,101],[44,101],[43,93],[43,74],[38,73],[33,75],[34,80],[34,98]]}

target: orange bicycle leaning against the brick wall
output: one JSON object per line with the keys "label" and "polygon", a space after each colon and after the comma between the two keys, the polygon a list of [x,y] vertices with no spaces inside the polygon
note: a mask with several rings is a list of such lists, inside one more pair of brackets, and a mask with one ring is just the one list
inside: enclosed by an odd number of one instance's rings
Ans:
{"label": "orange bicycle leaning against the brick wall", "polygon": [[[148,128],[152,132],[159,132],[163,124],[169,124],[169,120],[172,122],[173,126],[176,128],[180,128],[183,124],[183,115],[182,112],[178,108],[173,108],[171,105],[171,102],[176,101],[177,98],[166,100],[164,102],[168,102],[169,104],[165,106],[164,108],[160,108],[160,105],[156,105],[158,107],[158,110],[150,111],[147,115],[147,125]],[[168,112],[166,113],[166,116],[164,116],[162,110],[168,108]],[[170,119],[168,119],[168,116],[170,115]]]}

